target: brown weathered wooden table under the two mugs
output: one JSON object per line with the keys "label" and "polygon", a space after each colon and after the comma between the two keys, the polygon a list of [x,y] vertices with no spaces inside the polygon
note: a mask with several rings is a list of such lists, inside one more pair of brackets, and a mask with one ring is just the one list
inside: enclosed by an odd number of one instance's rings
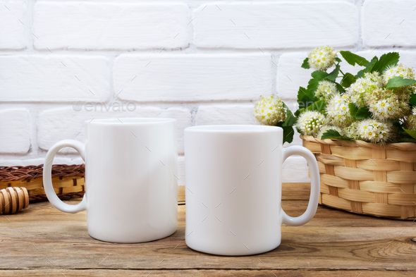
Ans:
{"label": "brown weathered wooden table under the two mugs", "polygon": [[[305,211],[309,186],[283,185],[287,214]],[[119,245],[90,238],[85,212],[30,204],[0,216],[0,276],[416,276],[416,222],[319,206],[305,226],[283,225],[275,250],[219,257],[185,245],[184,204],[178,214],[178,230],[169,238]]]}

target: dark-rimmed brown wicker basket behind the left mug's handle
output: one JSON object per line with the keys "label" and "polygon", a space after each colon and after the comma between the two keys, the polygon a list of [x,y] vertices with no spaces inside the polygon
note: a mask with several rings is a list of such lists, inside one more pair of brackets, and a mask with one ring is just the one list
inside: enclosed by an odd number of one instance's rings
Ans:
{"label": "dark-rimmed brown wicker basket behind the left mug's handle", "polygon": [[[0,190],[6,187],[26,187],[29,201],[47,201],[43,189],[40,166],[0,166]],[[82,197],[85,192],[85,166],[56,164],[52,166],[52,183],[59,198],[71,199]]]}

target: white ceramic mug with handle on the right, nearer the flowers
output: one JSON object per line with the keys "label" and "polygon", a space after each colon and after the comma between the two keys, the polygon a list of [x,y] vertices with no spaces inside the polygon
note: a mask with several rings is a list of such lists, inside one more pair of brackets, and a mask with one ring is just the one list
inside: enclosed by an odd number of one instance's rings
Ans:
{"label": "white ceramic mug with handle on the right, nearer the flowers", "polygon": [[[312,187],[305,214],[281,209],[282,164],[303,156]],[[283,130],[263,125],[185,128],[185,241],[193,250],[220,255],[267,252],[281,243],[281,223],[300,226],[319,201],[319,169],[305,147],[283,148]]]}

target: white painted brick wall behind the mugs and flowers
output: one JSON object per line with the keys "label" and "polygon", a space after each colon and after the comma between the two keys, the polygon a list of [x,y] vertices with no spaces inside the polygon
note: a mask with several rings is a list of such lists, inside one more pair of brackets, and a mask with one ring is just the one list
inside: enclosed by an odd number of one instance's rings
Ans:
{"label": "white painted brick wall behind the mugs and flowers", "polygon": [[[0,3],[6,166],[42,164],[54,142],[84,140],[87,119],[169,116],[178,119],[183,185],[183,129],[254,124],[259,95],[277,94],[296,109],[298,87],[310,78],[300,68],[310,48],[329,44],[367,59],[400,49],[400,61],[416,67],[410,0]],[[99,108],[127,102],[134,111]],[[292,144],[301,144],[297,133]],[[82,159],[65,149],[55,162]],[[290,157],[283,180],[309,180],[305,160]]]}

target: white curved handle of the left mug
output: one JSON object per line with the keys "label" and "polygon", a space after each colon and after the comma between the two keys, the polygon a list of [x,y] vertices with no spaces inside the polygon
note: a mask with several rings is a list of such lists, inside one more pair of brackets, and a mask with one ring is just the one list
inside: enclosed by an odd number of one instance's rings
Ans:
{"label": "white curved handle of the left mug", "polygon": [[82,160],[85,161],[85,145],[82,142],[78,142],[77,140],[61,140],[60,142],[57,142],[54,144],[54,146],[51,147],[51,149],[49,149],[47,156],[45,157],[45,166],[43,167],[43,187],[49,202],[51,202],[51,204],[54,205],[56,209],[65,211],[66,213],[75,214],[79,211],[84,211],[87,209],[87,197],[84,195],[82,201],[76,205],[63,203],[61,199],[59,199],[58,195],[56,195],[54,185],[52,185],[52,161],[54,161],[55,154],[67,146],[77,150],[81,155]]}

